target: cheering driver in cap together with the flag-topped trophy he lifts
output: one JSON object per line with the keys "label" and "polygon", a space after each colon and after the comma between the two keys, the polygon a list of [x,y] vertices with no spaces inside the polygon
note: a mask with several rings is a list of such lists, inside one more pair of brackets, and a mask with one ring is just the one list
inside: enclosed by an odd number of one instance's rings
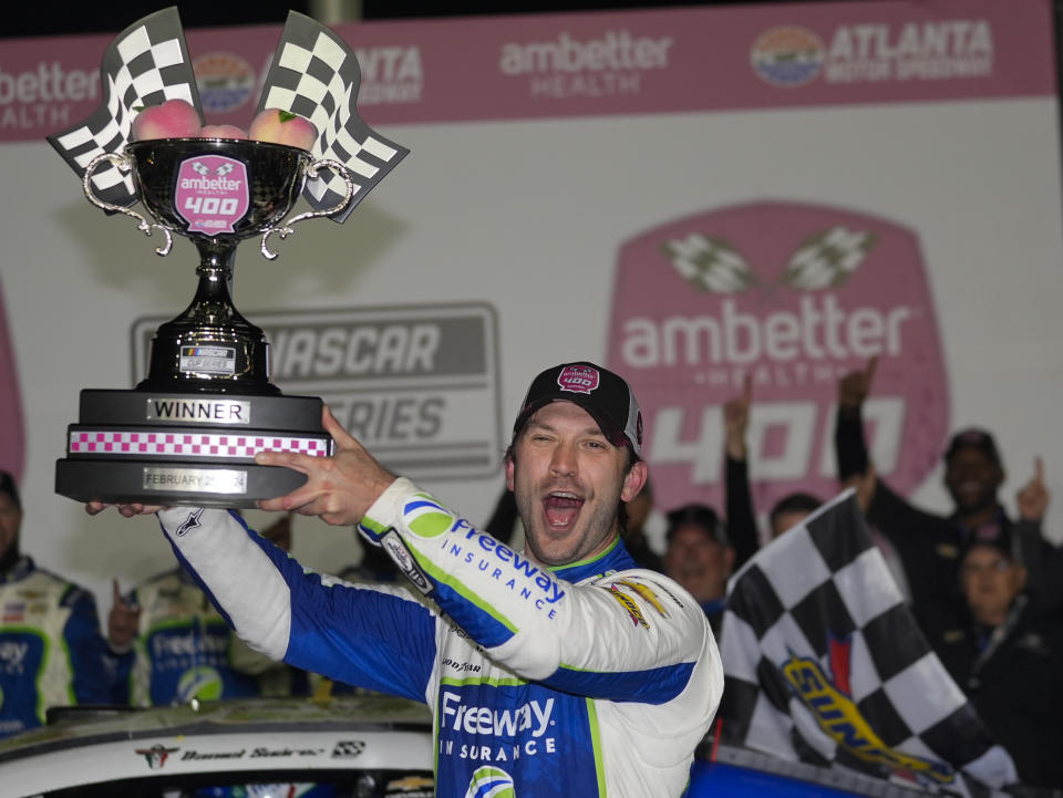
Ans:
{"label": "cheering driver in cap together with the flag-topped trophy he lifts", "polygon": [[[723,672],[698,603],[621,540],[619,508],[647,478],[627,382],[587,362],[539,374],[505,460],[525,550],[477,531],[384,469],[320,400],[280,395],[265,339],[229,297],[239,240],[261,235],[271,257],[275,231],[342,221],[405,154],[358,121],[345,43],[293,13],[267,75],[260,108],[312,122],[312,152],[225,136],[127,143],[143,106],[199,107],[173,9],[120,34],[103,74],[116,102],[52,143],[94,205],[162,230],[159,253],[172,232],[190,238],[199,286],[159,329],[140,385],[82,392],[56,490],[92,514],[157,512],[256,651],[426,703],[441,798],[681,795]],[[281,227],[300,194],[316,211]],[[128,210],[137,199],[154,222]],[[413,590],[305,571],[227,509],[248,506],[357,525]]]}

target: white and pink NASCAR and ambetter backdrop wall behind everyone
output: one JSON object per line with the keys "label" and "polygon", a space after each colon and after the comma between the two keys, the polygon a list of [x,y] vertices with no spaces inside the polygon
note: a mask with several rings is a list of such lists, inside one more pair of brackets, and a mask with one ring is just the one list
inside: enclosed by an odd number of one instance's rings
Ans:
{"label": "white and pink NASCAR and ambetter backdrop wall behind everyone", "polygon": [[[186,31],[209,123],[250,122],[281,22]],[[721,408],[746,376],[757,509],[835,494],[836,382],[875,355],[869,445],[900,491],[948,509],[940,455],[977,423],[1009,506],[1038,455],[1063,496],[1049,0],[336,30],[362,117],[411,154],[344,225],[299,225],[272,261],[242,245],[235,303],[286,393],[323,396],[473,520],[530,377],[577,359],[633,383],[661,509],[720,506]],[[151,519],[58,497],[54,464],[79,391],[143,377],[198,262],[91,206],[44,142],[100,104],[112,39],[0,41],[0,465],[23,484],[23,548],[104,612],[112,577],[172,556]],[[351,530],[299,519],[295,537],[311,566],[358,557]]]}

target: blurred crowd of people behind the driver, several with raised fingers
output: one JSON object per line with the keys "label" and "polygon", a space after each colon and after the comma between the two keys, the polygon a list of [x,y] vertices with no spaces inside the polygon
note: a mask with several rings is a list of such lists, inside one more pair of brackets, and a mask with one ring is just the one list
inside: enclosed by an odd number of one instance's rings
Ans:
{"label": "blurred crowd of people behind the driver, several with raised fingers", "polygon": [[[1043,465],[1004,508],[1004,463],[993,435],[956,432],[943,457],[946,512],[912,506],[880,478],[868,455],[863,406],[875,360],[838,382],[838,483],[855,487],[873,538],[933,652],[1012,756],[1024,784],[1063,788],[1063,550],[1042,521],[1049,506]],[[824,499],[807,493],[754,506],[746,431],[746,382],[724,406],[725,506],[659,507],[650,481],[628,502],[625,545],[643,568],[668,574],[704,609],[718,639],[727,584],[762,545],[801,525]],[[763,515],[762,515],[763,514]],[[767,519],[761,529],[758,518]],[[226,619],[180,568],[123,591],[111,607],[38,567],[21,552],[19,486],[0,473],[0,737],[44,722],[52,705],[152,706],[238,696],[319,695],[349,690],[266,660],[231,634]],[[651,518],[663,519],[650,536]],[[513,494],[504,491],[485,531],[520,550]],[[291,519],[260,532],[288,549]],[[801,568],[801,563],[794,563]],[[394,581],[371,550],[348,581]]]}

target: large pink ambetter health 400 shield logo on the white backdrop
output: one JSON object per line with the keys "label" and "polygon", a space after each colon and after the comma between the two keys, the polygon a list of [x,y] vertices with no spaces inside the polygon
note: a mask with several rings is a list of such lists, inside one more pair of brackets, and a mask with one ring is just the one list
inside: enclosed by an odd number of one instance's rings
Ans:
{"label": "large pink ambetter health 400 shield logo on the white backdrop", "polygon": [[838,379],[873,356],[871,459],[895,489],[920,485],[949,421],[936,315],[916,235],[850,210],[755,203],[627,241],[608,361],[646,413],[661,506],[722,506],[723,405],[746,380],[755,506],[836,494]]}

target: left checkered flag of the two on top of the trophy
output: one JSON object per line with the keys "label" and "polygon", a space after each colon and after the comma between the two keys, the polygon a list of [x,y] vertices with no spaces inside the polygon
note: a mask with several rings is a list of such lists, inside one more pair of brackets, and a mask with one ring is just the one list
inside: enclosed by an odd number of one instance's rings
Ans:
{"label": "left checkered flag of the two on top of the trophy", "polygon": [[[97,155],[125,146],[137,108],[176,97],[192,103],[203,120],[176,7],[148,14],[115,37],[100,65],[100,86],[103,102],[89,118],[48,136],[79,177]],[[92,182],[96,196],[112,205],[127,207],[137,199],[132,177],[112,164],[100,166]]]}

